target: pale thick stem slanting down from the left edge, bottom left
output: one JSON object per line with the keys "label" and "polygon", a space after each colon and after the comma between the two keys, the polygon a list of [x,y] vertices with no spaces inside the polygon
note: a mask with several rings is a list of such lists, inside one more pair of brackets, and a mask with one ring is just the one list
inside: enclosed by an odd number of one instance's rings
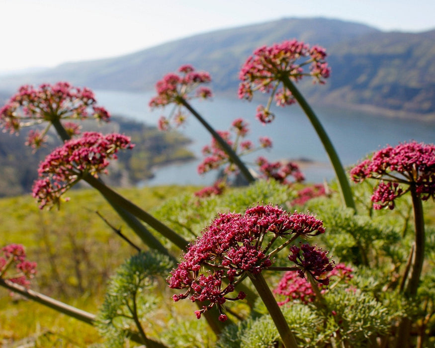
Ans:
{"label": "pale thick stem slanting down from the left edge, bottom left", "polygon": [[[39,292],[30,290],[25,288],[24,286],[15,284],[9,280],[6,279],[2,279],[0,278],[0,286],[16,292],[17,294],[20,294],[26,298],[28,298],[29,300],[35,301],[39,304],[42,304],[46,307],[49,307],[59,313],[62,314],[66,314],[69,317],[75,318],[77,320],[80,320],[81,322],[84,322],[86,324],[95,326],[96,325],[96,316],[92,313],[83,311],[79,308],[70,306],[64,302],[55,300],[52,297],[46,296],[44,294],[41,294]],[[129,334],[129,338],[130,340],[136,342],[136,343],[142,343],[141,338],[139,337],[139,335],[137,333],[130,333]],[[152,340],[150,340],[152,341]],[[158,348],[167,348],[165,345],[157,342],[157,341],[153,341],[153,344],[155,347]]]}

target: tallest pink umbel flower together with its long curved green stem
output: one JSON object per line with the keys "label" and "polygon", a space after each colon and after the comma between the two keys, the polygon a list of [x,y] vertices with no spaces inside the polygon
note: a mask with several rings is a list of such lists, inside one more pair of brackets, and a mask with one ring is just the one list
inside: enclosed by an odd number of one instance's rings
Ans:
{"label": "tallest pink umbel flower together with its long curved green stem", "polygon": [[266,106],[259,105],[257,118],[261,123],[270,123],[274,114],[270,106],[275,100],[278,106],[294,104],[302,107],[319,135],[331,160],[342,190],[346,206],[355,209],[347,175],[334,146],[318,117],[296,88],[294,83],[305,76],[314,82],[325,83],[330,68],[325,60],[326,51],[319,46],[310,46],[297,40],[284,41],[271,46],[263,46],[254,51],[240,71],[239,97],[252,100],[255,91],[270,93]]}

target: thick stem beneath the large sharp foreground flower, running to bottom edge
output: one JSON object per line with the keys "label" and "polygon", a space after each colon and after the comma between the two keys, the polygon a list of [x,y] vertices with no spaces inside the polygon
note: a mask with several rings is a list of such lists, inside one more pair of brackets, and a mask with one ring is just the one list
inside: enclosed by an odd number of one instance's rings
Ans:
{"label": "thick stem beneath the large sharp foreground flower, running to bottom edge", "polygon": [[296,338],[288,327],[287,321],[284,318],[272,292],[267,286],[266,280],[261,273],[249,274],[256,290],[258,291],[261,300],[266,306],[270,316],[272,317],[273,323],[275,323],[276,329],[281,336],[282,343],[285,348],[297,348]]}

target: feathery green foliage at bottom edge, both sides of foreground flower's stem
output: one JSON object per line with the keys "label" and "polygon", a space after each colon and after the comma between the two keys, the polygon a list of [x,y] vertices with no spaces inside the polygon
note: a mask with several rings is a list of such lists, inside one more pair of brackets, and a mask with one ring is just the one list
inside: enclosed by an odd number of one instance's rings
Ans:
{"label": "feathery green foliage at bottom edge, both sides of foreground flower's stem", "polygon": [[[301,303],[281,307],[299,347],[370,347],[376,338],[388,334],[398,318],[397,311],[359,290],[330,291],[325,296],[325,304],[325,308]],[[279,342],[272,319],[262,313],[226,328],[216,346],[273,348],[278,347]]]}

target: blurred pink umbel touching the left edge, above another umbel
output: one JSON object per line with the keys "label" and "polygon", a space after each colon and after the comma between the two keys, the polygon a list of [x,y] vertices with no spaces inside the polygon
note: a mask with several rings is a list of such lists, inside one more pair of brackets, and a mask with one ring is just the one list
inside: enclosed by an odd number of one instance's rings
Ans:
{"label": "blurred pink umbel touching the left edge, above another umbel", "polygon": [[[21,127],[57,122],[65,119],[85,119],[89,116],[101,121],[109,121],[106,109],[96,105],[93,92],[89,88],[73,87],[67,82],[39,87],[22,86],[9,102],[0,109],[0,126],[10,133]],[[36,148],[45,140],[44,132],[33,131],[27,144]]]}

